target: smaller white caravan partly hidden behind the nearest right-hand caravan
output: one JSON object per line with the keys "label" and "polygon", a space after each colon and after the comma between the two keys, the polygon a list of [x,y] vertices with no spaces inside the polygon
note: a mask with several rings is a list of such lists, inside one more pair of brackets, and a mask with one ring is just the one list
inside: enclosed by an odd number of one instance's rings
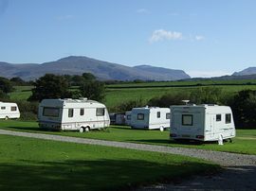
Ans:
{"label": "smaller white caravan partly hidden behind the nearest right-hand caravan", "polygon": [[133,129],[164,130],[170,127],[170,109],[157,107],[134,108],[131,127]]}

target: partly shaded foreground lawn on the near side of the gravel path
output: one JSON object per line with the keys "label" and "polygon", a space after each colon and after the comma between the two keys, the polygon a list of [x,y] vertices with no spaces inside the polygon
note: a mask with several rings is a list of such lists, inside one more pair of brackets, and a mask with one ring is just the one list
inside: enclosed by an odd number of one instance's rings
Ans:
{"label": "partly shaded foreground lawn on the near side of the gravel path", "polygon": [[0,135],[0,190],[120,190],[214,172],[171,154]]}

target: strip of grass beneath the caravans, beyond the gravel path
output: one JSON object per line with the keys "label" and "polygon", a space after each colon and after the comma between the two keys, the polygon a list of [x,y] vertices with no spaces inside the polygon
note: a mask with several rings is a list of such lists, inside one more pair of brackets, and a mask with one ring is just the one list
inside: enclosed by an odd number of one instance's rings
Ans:
{"label": "strip of grass beneath the caravans, beyond the gravel path", "polygon": [[93,130],[88,133],[80,133],[78,131],[45,131],[40,130],[36,122],[1,120],[0,128],[120,142],[163,145],[169,147],[201,148],[244,154],[256,154],[256,130],[237,130],[237,136],[233,139],[233,143],[227,142],[224,146],[218,146],[217,143],[205,143],[203,145],[181,144],[169,140],[169,130],[165,130],[163,132],[159,130],[131,130],[129,127],[125,126],[111,126],[108,130]]}

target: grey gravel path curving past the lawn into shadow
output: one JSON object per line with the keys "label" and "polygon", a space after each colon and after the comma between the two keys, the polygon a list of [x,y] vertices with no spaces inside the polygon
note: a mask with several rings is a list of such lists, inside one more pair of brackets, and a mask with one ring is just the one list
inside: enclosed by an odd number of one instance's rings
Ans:
{"label": "grey gravel path curving past the lawn into shadow", "polygon": [[114,148],[131,148],[137,150],[179,154],[208,160],[215,164],[222,165],[226,169],[222,173],[213,177],[195,177],[192,180],[181,183],[152,185],[138,190],[256,190],[256,155],[235,154],[196,148],[171,148],[165,146],[103,141],[13,130],[0,130],[0,134],[70,143],[108,146]]}

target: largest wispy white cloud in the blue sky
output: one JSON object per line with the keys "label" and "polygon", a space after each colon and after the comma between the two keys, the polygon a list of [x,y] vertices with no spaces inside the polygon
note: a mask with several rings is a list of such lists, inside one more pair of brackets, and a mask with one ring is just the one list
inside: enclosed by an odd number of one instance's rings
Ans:
{"label": "largest wispy white cloud in the blue sky", "polygon": [[181,32],[157,29],[153,32],[149,41],[150,43],[156,43],[164,40],[170,41],[170,40],[182,40],[182,39],[183,39],[183,35]]}

